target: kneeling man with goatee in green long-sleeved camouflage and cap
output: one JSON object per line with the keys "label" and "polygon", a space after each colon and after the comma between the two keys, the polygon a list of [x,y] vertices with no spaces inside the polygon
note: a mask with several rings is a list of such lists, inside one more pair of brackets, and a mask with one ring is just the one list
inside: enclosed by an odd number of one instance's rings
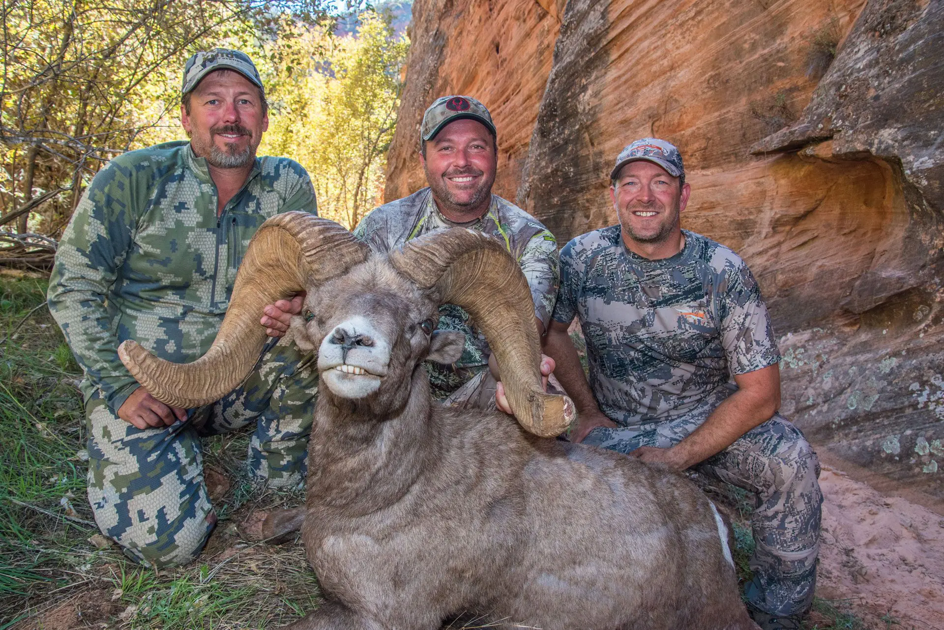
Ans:
{"label": "kneeling man with goatee in green long-sleeved camouflage and cap", "polygon": [[[181,123],[190,141],[128,152],[95,175],[59,244],[48,296],[85,372],[95,521],[159,568],[192,559],[216,522],[200,438],[256,423],[250,473],[297,485],[317,388],[312,357],[278,339],[241,387],[198,409],[163,405],[118,358],[128,339],[177,363],[202,356],[262,222],[316,211],[299,164],[256,157],[267,106],[243,53],[217,48],[187,61]],[[261,324],[277,338],[299,310],[298,298],[279,301]]]}

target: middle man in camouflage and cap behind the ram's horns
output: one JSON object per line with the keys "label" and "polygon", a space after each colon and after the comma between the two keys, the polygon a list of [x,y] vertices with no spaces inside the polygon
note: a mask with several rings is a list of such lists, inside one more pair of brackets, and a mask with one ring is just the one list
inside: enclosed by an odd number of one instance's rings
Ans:
{"label": "middle man in camouflage and cap behind the ram's horns", "polygon": [[[474,98],[443,96],[426,110],[420,141],[429,188],[373,209],[354,234],[379,252],[445,227],[496,237],[528,278],[535,326],[543,335],[557,293],[557,241],[537,219],[492,194],[497,144],[488,109]],[[464,333],[465,349],[451,365],[427,363],[433,396],[447,405],[493,406],[496,381],[486,369],[492,355],[488,341],[464,309],[447,304],[439,315],[440,330]],[[542,371],[548,375],[548,364]]]}

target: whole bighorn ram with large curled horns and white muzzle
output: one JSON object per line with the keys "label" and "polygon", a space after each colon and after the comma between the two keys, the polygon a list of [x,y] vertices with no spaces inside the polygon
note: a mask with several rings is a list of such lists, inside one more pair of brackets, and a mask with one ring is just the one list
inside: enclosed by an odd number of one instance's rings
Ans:
{"label": "whole bighorn ram with large curled horns and white muzzle", "polygon": [[[736,591],[724,526],[682,476],[538,436],[569,400],[541,388],[527,283],[514,258],[465,229],[371,255],[338,224],[269,219],[249,246],[206,356],[175,365],[133,341],[120,355],[156,398],[214,401],[259,356],[261,307],[307,290],[293,323],[318,350],[302,536],[326,603],[290,627],[756,628]],[[422,361],[458,359],[437,307],[464,307],[497,355],[518,422],[434,404]],[[534,435],[536,434],[536,435]]]}

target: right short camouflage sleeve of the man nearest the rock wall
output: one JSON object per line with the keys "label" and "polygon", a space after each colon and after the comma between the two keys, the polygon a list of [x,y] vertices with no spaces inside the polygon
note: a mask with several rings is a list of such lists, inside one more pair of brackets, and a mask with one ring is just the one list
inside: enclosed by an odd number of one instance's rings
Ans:
{"label": "right short camouflage sleeve of the man nearest the rock wall", "polygon": [[728,270],[726,290],[719,296],[721,345],[733,374],[766,368],[780,361],[767,305],[760,287],[742,261]]}

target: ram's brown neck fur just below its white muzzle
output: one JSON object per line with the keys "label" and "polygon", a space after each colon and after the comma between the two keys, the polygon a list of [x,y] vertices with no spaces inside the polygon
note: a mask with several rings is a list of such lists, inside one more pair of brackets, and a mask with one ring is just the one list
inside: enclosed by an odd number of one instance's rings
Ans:
{"label": "ram's brown neck fur just below its white muzzle", "polygon": [[426,370],[413,370],[406,404],[383,412],[323,388],[309,448],[309,506],[342,508],[347,516],[378,511],[398,501],[427,468],[431,419]]}

